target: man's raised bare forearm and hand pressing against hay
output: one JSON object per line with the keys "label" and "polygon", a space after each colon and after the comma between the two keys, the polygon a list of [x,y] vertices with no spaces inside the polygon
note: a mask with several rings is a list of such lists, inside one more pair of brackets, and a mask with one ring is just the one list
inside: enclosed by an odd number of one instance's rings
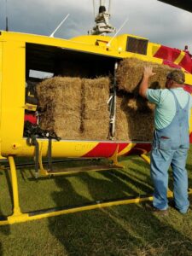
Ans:
{"label": "man's raised bare forearm and hand pressing against hay", "polygon": [[143,71],[143,79],[141,84],[139,85],[139,94],[146,98],[146,93],[148,90],[148,79],[154,76],[153,67],[144,67]]}

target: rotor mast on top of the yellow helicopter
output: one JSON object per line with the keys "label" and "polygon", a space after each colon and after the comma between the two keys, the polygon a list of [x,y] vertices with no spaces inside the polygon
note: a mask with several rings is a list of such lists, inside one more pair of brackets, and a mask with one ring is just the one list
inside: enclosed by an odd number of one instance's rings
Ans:
{"label": "rotor mast on top of the yellow helicopter", "polygon": [[[94,3],[94,1],[93,1]],[[95,6],[95,5],[94,5]],[[110,20],[111,0],[108,3],[108,11],[106,9],[105,0],[100,0],[99,13],[96,15],[96,26],[90,31],[91,35],[105,35],[106,33],[115,32],[115,28],[109,24]],[[95,12],[95,9],[94,9]]]}

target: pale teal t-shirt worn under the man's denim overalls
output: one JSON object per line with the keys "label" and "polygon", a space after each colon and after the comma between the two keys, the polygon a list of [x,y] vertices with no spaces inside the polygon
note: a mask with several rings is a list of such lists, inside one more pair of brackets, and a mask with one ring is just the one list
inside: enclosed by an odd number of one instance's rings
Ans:
{"label": "pale teal t-shirt worn under the man's denim overalls", "polygon": [[[183,90],[182,87],[173,90],[181,108],[184,108],[188,102],[189,93]],[[170,125],[176,113],[176,104],[172,92],[168,89],[148,89],[146,96],[148,102],[156,105],[154,111],[154,127],[160,130]],[[192,96],[190,96],[189,100],[189,115],[190,108],[192,108]]]}

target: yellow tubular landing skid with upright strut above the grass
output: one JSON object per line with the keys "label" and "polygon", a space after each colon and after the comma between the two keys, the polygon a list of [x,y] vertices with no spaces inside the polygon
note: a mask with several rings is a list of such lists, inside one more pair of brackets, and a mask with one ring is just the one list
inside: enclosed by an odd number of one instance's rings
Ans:
{"label": "yellow tubular landing skid with upright strut above the grass", "polygon": [[[139,195],[137,197],[128,196],[128,197],[113,199],[113,200],[92,201],[80,206],[49,208],[49,209],[39,210],[35,212],[24,213],[24,212],[21,212],[20,210],[18,180],[17,180],[14,157],[9,156],[8,160],[9,160],[9,166],[10,166],[10,172],[11,172],[11,179],[12,179],[14,206],[13,206],[12,215],[8,217],[0,218],[0,225],[18,224],[18,223],[24,223],[26,221],[36,220],[40,218],[59,216],[62,214],[84,212],[84,211],[90,211],[98,208],[127,205],[132,203],[139,203],[143,201],[153,201],[153,196],[151,195]],[[192,189],[189,189],[189,194],[192,194]],[[171,191],[168,191],[167,197],[172,197]]]}

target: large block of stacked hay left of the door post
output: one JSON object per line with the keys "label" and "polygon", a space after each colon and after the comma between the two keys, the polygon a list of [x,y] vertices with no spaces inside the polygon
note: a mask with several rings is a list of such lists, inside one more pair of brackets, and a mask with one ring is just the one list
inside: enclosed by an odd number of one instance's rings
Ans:
{"label": "large block of stacked hay left of the door post", "polygon": [[55,77],[38,84],[39,125],[62,139],[107,140],[108,78]]}

